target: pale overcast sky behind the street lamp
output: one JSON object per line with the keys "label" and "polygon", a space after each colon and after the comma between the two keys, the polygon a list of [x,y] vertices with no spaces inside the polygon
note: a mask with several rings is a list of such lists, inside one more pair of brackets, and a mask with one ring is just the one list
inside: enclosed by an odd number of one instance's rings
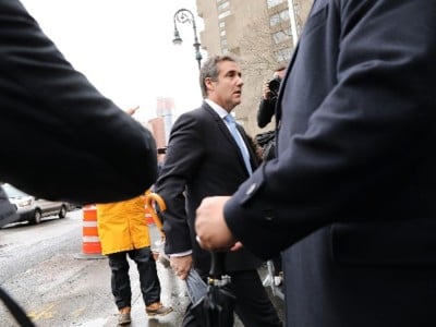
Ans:
{"label": "pale overcast sky behind the street lamp", "polygon": [[[195,0],[22,0],[66,59],[122,109],[141,106],[135,117],[155,117],[156,98],[173,97],[175,113],[202,102],[191,24],[173,15],[185,8],[203,21]],[[199,35],[198,35],[199,36]],[[203,57],[206,55],[203,52]]]}

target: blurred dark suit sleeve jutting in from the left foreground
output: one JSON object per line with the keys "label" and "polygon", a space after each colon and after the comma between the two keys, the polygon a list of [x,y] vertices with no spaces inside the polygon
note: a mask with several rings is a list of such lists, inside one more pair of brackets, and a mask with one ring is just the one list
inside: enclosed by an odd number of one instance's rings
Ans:
{"label": "blurred dark suit sleeve jutting in from the left foreground", "polygon": [[73,69],[16,0],[0,1],[0,180],[76,203],[143,193],[152,134]]}

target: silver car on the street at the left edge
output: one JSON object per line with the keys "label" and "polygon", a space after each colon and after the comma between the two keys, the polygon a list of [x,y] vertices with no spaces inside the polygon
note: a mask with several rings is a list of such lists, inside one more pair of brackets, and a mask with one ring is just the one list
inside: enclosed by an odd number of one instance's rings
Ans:
{"label": "silver car on the street at the left edge", "polygon": [[1,185],[9,197],[9,202],[16,208],[19,221],[39,223],[43,217],[58,216],[65,218],[70,205],[63,202],[52,202],[28,195],[25,192],[4,183]]}

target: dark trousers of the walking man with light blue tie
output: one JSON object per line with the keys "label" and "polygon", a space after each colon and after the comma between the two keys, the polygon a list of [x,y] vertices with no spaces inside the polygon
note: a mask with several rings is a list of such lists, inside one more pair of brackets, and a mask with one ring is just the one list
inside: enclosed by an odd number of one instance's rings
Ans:
{"label": "dark trousers of the walking man with light blue tie", "polygon": [[[268,293],[262,284],[257,270],[229,272],[229,289],[237,298],[235,314],[247,327],[282,326]],[[192,303],[186,307],[183,327],[203,327],[193,315]],[[233,327],[233,326],[227,326]]]}

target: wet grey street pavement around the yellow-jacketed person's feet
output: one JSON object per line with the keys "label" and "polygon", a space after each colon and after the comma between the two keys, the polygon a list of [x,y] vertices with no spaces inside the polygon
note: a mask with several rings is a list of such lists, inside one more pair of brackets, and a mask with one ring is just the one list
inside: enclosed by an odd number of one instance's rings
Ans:
{"label": "wet grey street pavement around the yellow-jacketed person's feet", "polygon": [[[48,218],[36,226],[21,223],[0,229],[0,284],[38,327],[117,326],[108,262],[83,255],[82,219],[82,210],[74,210],[64,219]],[[152,234],[158,237],[154,227]],[[153,319],[146,316],[136,267],[131,262],[133,327],[181,324],[189,301],[184,282],[170,268],[157,266],[161,300],[174,312]],[[281,313],[281,301],[275,303]],[[4,305],[0,305],[0,326],[17,326]]]}

